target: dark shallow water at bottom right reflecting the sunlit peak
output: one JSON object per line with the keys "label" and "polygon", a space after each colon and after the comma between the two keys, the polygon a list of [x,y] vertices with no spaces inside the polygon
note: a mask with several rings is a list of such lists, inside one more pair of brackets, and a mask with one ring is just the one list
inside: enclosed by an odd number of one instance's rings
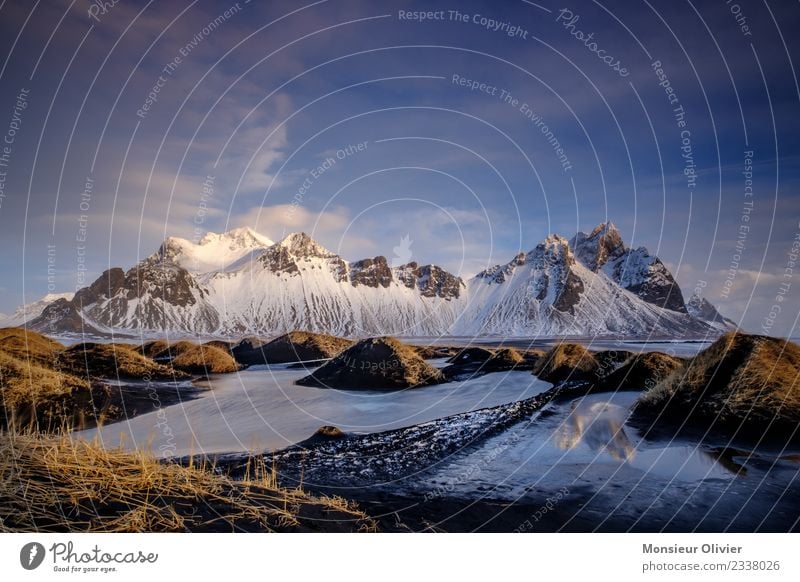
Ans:
{"label": "dark shallow water at bottom right reflecting the sunlit peak", "polygon": [[393,489],[428,501],[550,500],[544,513],[560,505],[564,529],[586,522],[612,531],[797,527],[796,448],[754,452],[724,441],[643,440],[626,424],[636,397],[595,394],[553,406]]}

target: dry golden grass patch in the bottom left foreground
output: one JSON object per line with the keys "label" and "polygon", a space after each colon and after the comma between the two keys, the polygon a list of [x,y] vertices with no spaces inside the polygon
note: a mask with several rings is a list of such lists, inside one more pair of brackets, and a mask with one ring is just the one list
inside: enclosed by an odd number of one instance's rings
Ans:
{"label": "dry golden grass patch in the bottom left foreground", "polygon": [[341,498],[281,489],[255,463],[233,480],[68,436],[0,434],[0,531],[370,531]]}

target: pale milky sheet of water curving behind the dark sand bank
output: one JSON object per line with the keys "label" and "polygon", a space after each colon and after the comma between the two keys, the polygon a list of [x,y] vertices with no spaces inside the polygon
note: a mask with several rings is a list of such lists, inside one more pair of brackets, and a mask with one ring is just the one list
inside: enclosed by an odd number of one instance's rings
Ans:
{"label": "pale milky sheet of water curving behind the dark sand bank", "polygon": [[[432,360],[443,365],[444,360]],[[269,451],[310,437],[320,426],[378,432],[539,394],[550,384],[530,372],[488,374],[398,392],[297,386],[302,369],[254,366],[212,377],[200,398],[78,433],[106,446],[146,448],[162,456]]]}

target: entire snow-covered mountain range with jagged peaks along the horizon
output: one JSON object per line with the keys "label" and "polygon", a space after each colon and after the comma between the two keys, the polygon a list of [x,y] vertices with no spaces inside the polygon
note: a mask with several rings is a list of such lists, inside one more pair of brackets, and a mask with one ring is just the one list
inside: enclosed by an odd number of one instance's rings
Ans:
{"label": "entire snow-covered mountain range with jagged peaks along the horizon", "polygon": [[733,325],[702,298],[687,305],[666,266],[628,248],[611,223],[571,241],[550,235],[467,281],[382,256],[350,262],[305,233],[275,243],[247,228],[197,243],[171,237],[131,269],[24,314],[49,333],[208,336],[686,337]]}

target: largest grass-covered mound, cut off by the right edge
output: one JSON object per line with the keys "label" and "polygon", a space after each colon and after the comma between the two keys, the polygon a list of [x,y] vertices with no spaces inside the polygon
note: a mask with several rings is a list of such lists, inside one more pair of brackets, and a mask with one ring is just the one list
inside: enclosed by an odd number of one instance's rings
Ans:
{"label": "largest grass-covered mound, cut off by the right edge", "polygon": [[635,416],[713,426],[742,437],[800,435],[800,346],[728,333],[649,390]]}

